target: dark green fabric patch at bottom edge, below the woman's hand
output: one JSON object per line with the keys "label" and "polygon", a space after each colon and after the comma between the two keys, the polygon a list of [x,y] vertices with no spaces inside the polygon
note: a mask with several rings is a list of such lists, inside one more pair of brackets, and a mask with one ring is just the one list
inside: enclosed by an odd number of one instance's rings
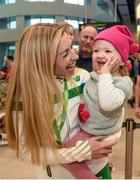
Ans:
{"label": "dark green fabric patch at bottom edge, below the woman's hand", "polygon": [[101,179],[112,179],[109,164],[106,164],[105,167],[98,174],[96,174],[96,176],[100,177]]}

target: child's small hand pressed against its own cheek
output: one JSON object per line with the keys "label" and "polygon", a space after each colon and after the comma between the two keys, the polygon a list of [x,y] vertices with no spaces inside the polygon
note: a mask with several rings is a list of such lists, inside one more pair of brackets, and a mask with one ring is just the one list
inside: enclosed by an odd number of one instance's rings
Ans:
{"label": "child's small hand pressed against its own cheek", "polygon": [[120,66],[120,60],[118,58],[112,57],[110,60],[108,60],[105,65],[101,69],[101,74],[103,73],[114,73],[119,70]]}

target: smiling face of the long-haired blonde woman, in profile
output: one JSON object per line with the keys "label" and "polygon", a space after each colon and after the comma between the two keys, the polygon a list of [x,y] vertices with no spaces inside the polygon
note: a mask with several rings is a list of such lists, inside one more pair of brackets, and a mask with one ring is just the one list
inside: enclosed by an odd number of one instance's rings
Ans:
{"label": "smiling face of the long-haired blonde woman, in profile", "polygon": [[74,74],[76,60],[78,55],[71,48],[72,40],[65,33],[59,43],[57,57],[55,62],[55,75],[62,77],[71,77]]}

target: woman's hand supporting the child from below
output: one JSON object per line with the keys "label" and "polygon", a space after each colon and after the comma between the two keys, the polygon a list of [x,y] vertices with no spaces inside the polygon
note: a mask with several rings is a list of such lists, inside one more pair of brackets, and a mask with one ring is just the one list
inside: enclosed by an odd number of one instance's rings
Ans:
{"label": "woman's hand supporting the child from below", "polygon": [[97,136],[88,139],[92,151],[92,158],[98,159],[108,156],[112,152],[112,147],[117,143],[117,140],[104,140],[104,136]]}

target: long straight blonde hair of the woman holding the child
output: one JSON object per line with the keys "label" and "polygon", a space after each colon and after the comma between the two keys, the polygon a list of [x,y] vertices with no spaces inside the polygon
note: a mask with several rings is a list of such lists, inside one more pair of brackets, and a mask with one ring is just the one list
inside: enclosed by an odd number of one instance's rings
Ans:
{"label": "long straight blonde hair of the woman holding the child", "polygon": [[[36,24],[24,30],[16,47],[14,68],[6,99],[6,127],[8,144],[19,148],[18,103],[22,101],[23,133],[27,150],[34,164],[47,164],[47,149],[55,153],[57,147],[52,127],[54,99],[62,96],[56,83],[54,65],[63,30],[57,25]],[[62,99],[61,99],[62,100]],[[13,106],[16,105],[16,132]]]}

